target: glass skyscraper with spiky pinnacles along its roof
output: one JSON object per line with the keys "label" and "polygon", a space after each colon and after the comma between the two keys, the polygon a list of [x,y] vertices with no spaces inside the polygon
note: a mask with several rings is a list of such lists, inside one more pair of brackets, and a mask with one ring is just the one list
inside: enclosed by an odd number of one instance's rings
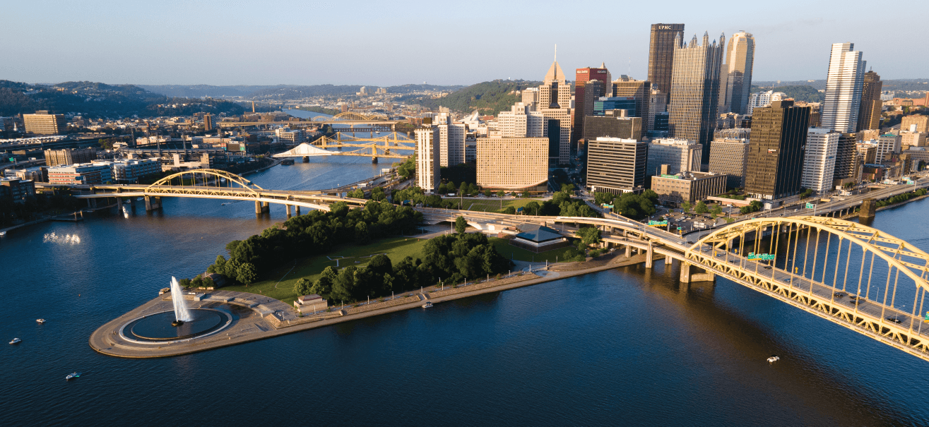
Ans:
{"label": "glass skyscraper with spiky pinnacles along its roof", "polygon": [[719,45],[710,43],[703,33],[703,43],[697,36],[674,46],[674,74],[671,79],[671,103],[668,104],[668,132],[675,138],[693,139],[703,146],[701,163],[710,162],[710,141],[716,128],[719,103],[719,70],[723,62],[725,34]]}

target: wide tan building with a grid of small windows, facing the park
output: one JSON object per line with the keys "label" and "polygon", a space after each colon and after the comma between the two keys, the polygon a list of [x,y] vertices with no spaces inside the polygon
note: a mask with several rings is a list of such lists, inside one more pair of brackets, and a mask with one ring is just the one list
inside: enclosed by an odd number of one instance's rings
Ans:
{"label": "wide tan building with a grid of small windows, facing the park", "polygon": [[478,138],[477,168],[482,188],[545,192],[548,138]]}

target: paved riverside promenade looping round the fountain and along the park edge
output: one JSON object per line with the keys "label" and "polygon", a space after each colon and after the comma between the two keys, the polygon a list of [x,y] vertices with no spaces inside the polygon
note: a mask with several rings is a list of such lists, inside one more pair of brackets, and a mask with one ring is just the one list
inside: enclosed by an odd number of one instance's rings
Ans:
{"label": "paved riverside promenade looping round the fountain and along the park edge", "polygon": [[[662,258],[662,255],[656,254],[653,259]],[[507,291],[562,278],[596,273],[625,265],[642,264],[645,261],[645,254],[636,254],[630,258],[615,257],[607,263],[597,262],[596,265],[589,268],[573,271],[540,270],[523,273],[511,278],[491,279],[457,288],[445,287],[444,290],[433,289],[422,293],[404,294],[394,300],[373,304],[358,304],[348,308],[340,307],[334,311],[322,312],[319,315],[307,317],[296,317],[293,309],[289,306],[285,310],[281,308],[281,305],[285,304],[267,296],[247,292],[214,291],[196,297],[201,301],[200,307],[225,308],[235,314],[233,324],[229,328],[222,330],[221,333],[202,339],[193,339],[189,342],[165,343],[162,345],[131,343],[124,340],[121,336],[121,330],[125,324],[138,317],[171,309],[170,297],[160,295],[101,326],[90,335],[88,343],[94,351],[107,356],[151,358],[188,355],[303,330],[317,329],[365,317],[375,317],[420,308],[425,302],[438,304],[484,293]],[[188,299],[193,297],[193,295],[190,295]]]}

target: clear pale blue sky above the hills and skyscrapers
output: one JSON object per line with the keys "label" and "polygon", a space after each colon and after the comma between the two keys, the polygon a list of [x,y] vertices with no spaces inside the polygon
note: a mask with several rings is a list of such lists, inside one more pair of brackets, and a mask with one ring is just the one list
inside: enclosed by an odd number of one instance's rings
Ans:
{"label": "clear pale blue sky above the hills and skyscrapers", "polygon": [[[755,38],[753,81],[825,79],[855,43],[883,79],[929,77],[929,2],[6,2],[0,80],[107,84],[476,84],[606,63],[644,79],[653,23]],[[868,13],[871,12],[871,13]],[[727,41],[727,40],[726,40]]]}

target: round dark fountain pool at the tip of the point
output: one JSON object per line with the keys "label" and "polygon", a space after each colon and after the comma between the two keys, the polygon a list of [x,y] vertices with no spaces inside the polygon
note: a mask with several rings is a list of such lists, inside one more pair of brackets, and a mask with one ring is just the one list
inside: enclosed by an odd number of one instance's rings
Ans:
{"label": "round dark fountain pool at the tip of the point", "polygon": [[175,321],[174,311],[165,311],[154,315],[137,318],[125,325],[122,332],[130,340],[142,342],[167,342],[186,340],[203,336],[225,328],[231,317],[229,314],[213,309],[190,309],[193,320],[179,326],[172,326]]}

